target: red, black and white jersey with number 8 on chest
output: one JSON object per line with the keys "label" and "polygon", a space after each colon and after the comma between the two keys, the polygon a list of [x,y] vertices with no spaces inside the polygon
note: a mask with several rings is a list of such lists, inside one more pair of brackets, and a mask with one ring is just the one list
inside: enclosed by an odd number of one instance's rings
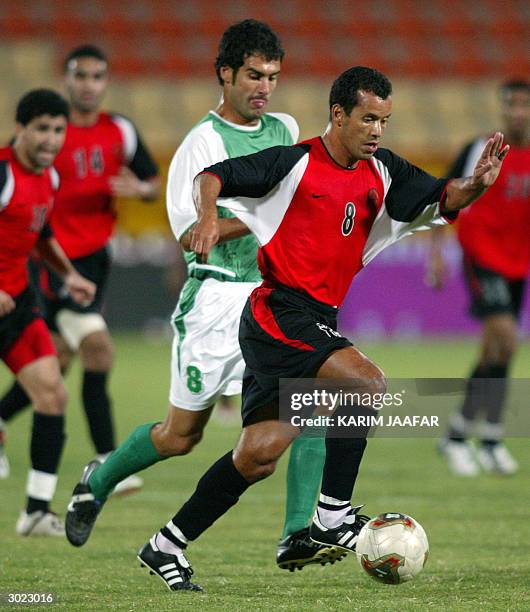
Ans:
{"label": "red, black and white jersey with number 8 on chest", "polygon": [[388,149],[348,169],[332,159],[321,138],[312,138],[225,160],[205,172],[222,183],[219,205],[256,235],[265,282],[335,308],[357,272],[385,247],[447,222],[439,208],[448,181]]}

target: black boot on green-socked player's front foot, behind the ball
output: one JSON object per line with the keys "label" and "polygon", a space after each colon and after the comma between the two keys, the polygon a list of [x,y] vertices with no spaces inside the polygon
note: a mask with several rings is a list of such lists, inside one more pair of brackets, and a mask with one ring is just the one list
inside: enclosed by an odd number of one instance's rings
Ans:
{"label": "black boot on green-socked player's front foot, behind the ball", "polygon": [[310,564],[335,563],[345,556],[346,553],[336,546],[325,546],[313,542],[309,537],[309,527],[304,527],[280,540],[276,552],[276,563],[280,569],[294,572],[295,569],[301,570]]}

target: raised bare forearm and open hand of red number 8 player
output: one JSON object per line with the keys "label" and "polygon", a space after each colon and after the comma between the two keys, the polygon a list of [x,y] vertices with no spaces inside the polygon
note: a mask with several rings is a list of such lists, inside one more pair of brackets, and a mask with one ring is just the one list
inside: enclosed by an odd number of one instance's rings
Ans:
{"label": "raised bare forearm and open hand of red number 8 player", "polygon": [[496,132],[488,140],[472,176],[454,179],[447,185],[447,198],[442,206],[442,213],[454,212],[469,206],[478,199],[497,179],[508,151],[509,145],[503,145],[504,135]]}

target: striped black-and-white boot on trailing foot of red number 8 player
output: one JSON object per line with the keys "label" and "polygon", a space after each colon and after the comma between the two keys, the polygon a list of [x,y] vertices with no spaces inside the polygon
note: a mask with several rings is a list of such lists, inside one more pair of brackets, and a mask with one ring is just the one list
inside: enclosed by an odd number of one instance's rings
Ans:
{"label": "striped black-and-white boot on trailing foot of red number 8 player", "polygon": [[171,555],[162,552],[156,545],[156,535],[138,552],[140,565],[147,567],[151,575],[162,580],[170,591],[202,591],[203,588],[191,582],[193,570],[183,552]]}

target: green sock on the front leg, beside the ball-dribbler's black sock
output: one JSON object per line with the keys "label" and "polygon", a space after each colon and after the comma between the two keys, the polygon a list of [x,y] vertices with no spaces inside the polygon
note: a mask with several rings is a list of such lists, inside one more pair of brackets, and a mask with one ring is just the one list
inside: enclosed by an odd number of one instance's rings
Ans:
{"label": "green sock on the front leg, beside the ball-dribbler's black sock", "polygon": [[282,539],[304,527],[315,509],[326,460],[326,439],[299,436],[291,445]]}

